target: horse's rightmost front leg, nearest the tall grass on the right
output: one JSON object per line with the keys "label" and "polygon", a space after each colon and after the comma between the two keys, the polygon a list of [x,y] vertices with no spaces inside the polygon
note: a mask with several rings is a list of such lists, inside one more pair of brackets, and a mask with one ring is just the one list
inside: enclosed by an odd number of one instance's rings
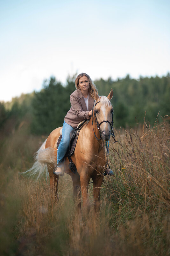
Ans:
{"label": "horse's rightmost front leg, nearest the tall grass on the right", "polygon": [[95,208],[95,212],[98,212],[100,208],[100,189],[103,182],[103,176],[97,174],[94,177],[92,177],[92,179],[93,179],[93,199],[94,199],[93,205]]}

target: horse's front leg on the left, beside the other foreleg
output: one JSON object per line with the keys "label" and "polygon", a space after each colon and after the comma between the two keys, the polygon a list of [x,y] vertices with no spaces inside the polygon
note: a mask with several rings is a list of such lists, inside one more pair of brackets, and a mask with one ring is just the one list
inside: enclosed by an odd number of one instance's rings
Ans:
{"label": "horse's front leg on the left, beside the other foreleg", "polygon": [[81,173],[80,182],[81,182],[81,193],[83,198],[83,208],[89,212],[89,194],[88,194],[88,186],[89,186],[90,176],[86,173]]}

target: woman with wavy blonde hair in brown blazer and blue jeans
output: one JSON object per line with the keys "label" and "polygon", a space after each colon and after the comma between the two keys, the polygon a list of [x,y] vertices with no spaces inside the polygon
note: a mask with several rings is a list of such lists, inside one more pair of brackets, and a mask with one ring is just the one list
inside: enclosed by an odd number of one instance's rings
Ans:
{"label": "woman with wavy blonde hair in brown blazer and blue jeans", "polygon": [[[62,174],[62,166],[64,156],[67,152],[70,132],[77,127],[77,125],[92,115],[92,108],[94,105],[94,90],[97,92],[96,86],[86,73],[81,73],[75,79],[76,90],[70,95],[71,108],[64,118],[62,138],[57,152],[57,169],[53,172],[56,175]],[[111,169],[107,168],[107,174],[113,175]]]}

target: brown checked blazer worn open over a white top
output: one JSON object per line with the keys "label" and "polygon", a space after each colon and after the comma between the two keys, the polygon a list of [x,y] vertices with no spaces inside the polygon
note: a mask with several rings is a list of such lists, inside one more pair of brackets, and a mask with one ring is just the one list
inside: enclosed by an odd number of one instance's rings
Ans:
{"label": "brown checked blazer worn open over a white top", "polygon": [[71,108],[68,110],[64,121],[73,128],[76,128],[81,121],[85,120],[86,118],[90,119],[89,111],[93,108],[94,101],[95,100],[92,99],[89,94],[89,107],[87,109],[81,90],[75,90],[70,95]]}

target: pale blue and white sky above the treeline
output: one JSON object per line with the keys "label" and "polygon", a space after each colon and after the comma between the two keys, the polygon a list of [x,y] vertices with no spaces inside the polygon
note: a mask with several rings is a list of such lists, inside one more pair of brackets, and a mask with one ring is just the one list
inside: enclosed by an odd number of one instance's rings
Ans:
{"label": "pale blue and white sky above the treeline", "polygon": [[170,71],[170,1],[0,0],[0,101],[55,76],[92,80]]}

